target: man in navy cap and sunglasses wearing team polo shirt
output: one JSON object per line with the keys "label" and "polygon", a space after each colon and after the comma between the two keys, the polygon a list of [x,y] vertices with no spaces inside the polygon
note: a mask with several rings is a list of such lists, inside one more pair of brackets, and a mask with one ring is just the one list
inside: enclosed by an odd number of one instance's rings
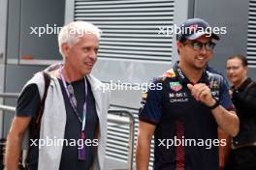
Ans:
{"label": "man in navy cap and sunglasses wearing team polo shirt", "polygon": [[137,170],[148,169],[154,135],[154,170],[216,170],[217,128],[235,136],[239,119],[223,77],[206,71],[218,36],[203,19],[186,20],[176,35],[179,62],[155,78],[162,89],[143,96],[139,113]]}

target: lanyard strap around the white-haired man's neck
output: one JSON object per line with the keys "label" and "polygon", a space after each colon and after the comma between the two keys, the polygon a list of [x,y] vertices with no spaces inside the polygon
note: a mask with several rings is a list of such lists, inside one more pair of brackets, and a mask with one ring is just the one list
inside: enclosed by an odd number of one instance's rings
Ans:
{"label": "lanyard strap around the white-haired man's neck", "polygon": [[[85,128],[85,121],[86,121],[86,99],[87,99],[87,81],[86,81],[86,78],[84,77],[84,84],[85,84],[85,101],[84,101],[84,104],[83,104],[83,109],[82,109],[82,120],[80,119],[80,114],[78,112],[78,105],[77,105],[77,101],[76,101],[76,97],[75,97],[75,94],[74,94],[74,90],[73,90],[73,87],[72,85],[69,85],[67,86],[67,83],[64,79],[64,76],[63,76],[63,73],[62,73],[62,66],[60,66],[60,69],[59,69],[59,74],[60,74],[60,77],[61,77],[61,80],[62,80],[62,83],[65,87],[65,90],[66,90],[66,93],[67,93],[67,96],[70,100],[70,103],[72,105],[72,108],[73,110],[75,111],[80,123],[81,123],[81,132],[84,132],[84,128]],[[71,91],[73,91],[71,93]]]}

